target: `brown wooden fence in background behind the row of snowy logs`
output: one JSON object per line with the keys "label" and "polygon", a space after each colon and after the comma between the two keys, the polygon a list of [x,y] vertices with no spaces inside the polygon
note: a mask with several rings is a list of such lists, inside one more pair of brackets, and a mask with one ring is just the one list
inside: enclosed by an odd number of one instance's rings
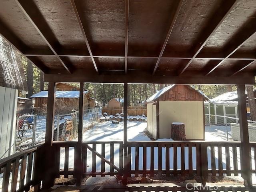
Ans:
{"label": "brown wooden fence in background behind the row of snowy logs", "polygon": [[[108,115],[115,115],[116,113],[123,113],[124,107],[102,107],[102,114],[106,112]],[[130,106],[128,107],[128,116],[147,116],[147,108],[139,106]]]}

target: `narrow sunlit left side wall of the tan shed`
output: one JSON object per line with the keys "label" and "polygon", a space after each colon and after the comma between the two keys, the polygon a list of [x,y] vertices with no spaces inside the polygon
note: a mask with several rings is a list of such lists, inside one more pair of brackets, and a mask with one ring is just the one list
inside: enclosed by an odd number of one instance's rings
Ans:
{"label": "narrow sunlit left side wall of the tan shed", "polygon": [[147,104],[147,122],[148,132],[152,134],[153,138],[156,138],[156,105],[153,103]]}

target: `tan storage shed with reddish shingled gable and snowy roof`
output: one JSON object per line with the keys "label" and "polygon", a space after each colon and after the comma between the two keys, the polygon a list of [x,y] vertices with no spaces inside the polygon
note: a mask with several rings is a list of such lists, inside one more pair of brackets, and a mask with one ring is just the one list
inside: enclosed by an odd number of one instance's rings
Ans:
{"label": "tan storage shed with reddish shingled gable and snowy roof", "polygon": [[186,140],[204,140],[202,93],[189,85],[171,85],[146,100],[148,132],[154,139],[170,138],[172,122],[185,124]]}

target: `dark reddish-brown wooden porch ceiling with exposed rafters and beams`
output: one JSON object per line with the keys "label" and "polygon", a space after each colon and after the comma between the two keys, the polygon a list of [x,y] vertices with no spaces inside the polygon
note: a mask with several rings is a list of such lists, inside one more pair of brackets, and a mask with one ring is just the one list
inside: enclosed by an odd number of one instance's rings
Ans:
{"label": "dark reddish-brown wooden porch ceiling with exposed rafters and beams", "polygon": [[256,0],[4,0],[46,81],[254,84]]}

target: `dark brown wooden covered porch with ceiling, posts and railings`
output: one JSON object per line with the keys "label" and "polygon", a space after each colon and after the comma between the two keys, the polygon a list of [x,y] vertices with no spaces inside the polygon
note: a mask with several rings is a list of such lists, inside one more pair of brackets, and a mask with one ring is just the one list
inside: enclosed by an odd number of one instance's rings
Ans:
{"label": "dark brown wooden covered porch with ceiling, posts and railings", "polygon": [[[255,192],[245,96],[245,85],[255,85],[255,0],[5,0],[0,7],[0,34],[49,82],[45,142],[0,160],[2,192],[51,191],[60,176],[76,178],[78,187],[58,191]],[[20,84],[9,76],[20,80],[21,72],[4,74],[9,86]],[[58,82],[80,83],[76,141],[53,141]],[[83,140],[85,82],[124,85],[122,141]],[[128,140],[128,84],[236,85],[240,141]],[[136,184],[134,175],[142,175]],[[147,175],[196,178],[202,188],[147,184]],[[209,183],[226,175],[243,183]],[[89,176],[116,176],[119,183],[81,186]]]}

